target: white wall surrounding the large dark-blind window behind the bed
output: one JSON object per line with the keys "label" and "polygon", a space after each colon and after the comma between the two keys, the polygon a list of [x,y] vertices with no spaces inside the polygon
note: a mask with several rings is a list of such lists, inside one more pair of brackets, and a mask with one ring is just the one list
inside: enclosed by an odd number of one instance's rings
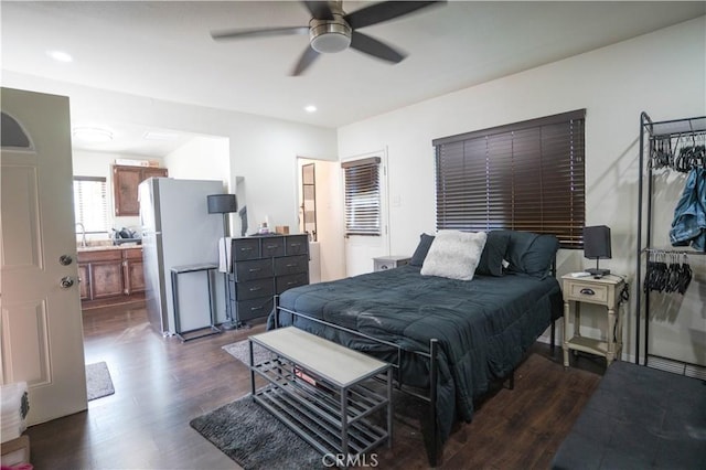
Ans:
{"label": "white wall surrounding the large dark-blind window behind the bed", "polygon": [[[613,258],[601,263],[629,276],[634,297],[638,138],[640,113],[654,120],[706,114],[706,19],[704,17],[634,40],[419,103],[339,129],[339,154],[388,149],[391,252],[411,254],[419,234],[435,231],[431,140],[503,124],[586,108],[587,225],[612,229]],[[665,221],[676,200],[664,209]],[[668,231],[663,222],[661,231]],[[585,265],[582,252],[563,250],[559,275]],[[706,282],[704,275],[700,281]],[[704,287],[693,285],[694,295]],[[694,329],[703,307],[682,303]],[[703,306],[703,302],[699,303]],[[634,310],[634,299],[631,301]],[[589,309],[585,309],[589,311]],[[634,344],[634,311],[624,324],[627,352]],[[585,314],[595,327],[600,314]],[[674,327],[676,328],[676,327]],[[684,334],[689,334],[685,332]],[[678,335],[677,335],[678,337]],[[686,337],[682,335],[682,341]],[[706,351],[704,338],[675,344],[685,357]]]}

